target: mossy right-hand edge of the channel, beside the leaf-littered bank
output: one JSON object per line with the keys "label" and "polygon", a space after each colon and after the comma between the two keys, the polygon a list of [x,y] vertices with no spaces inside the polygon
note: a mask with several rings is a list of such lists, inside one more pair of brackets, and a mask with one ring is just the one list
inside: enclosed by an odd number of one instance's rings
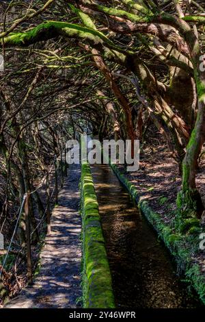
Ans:
{"label": "mossy right-hand edge of the channel, beside the leaf-littered bank", "polygon": [[141,199],[137,188],[126,179],[124,174],[118,169],[118,166],[111,162],[109,162],[109,165],[118,179],[120,179],[120,182],[122,182],[128,192],[131,193],[131,196],[137,202],[139,210],[141,210],[149,223],[154,227],[154,230],[156,230],[172,256],[174,256],[174,260],[180,271],[183,271],[187,282],[190,282],[193,288],[195,288],[202,303],[205,305],[205,276],[202,271],[200,271],[200,266],[192,260],[192,247],[191,245],[187,245],[186,236],[174,234],[172,228],[163,222],[158,213],[152,210],[148,201],[146,199]]}

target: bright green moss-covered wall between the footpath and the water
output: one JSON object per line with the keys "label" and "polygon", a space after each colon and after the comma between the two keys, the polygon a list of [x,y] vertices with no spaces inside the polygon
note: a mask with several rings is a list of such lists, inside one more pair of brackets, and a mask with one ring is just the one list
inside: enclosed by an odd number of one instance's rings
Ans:
{"label": "bright green moss-covered wall between the footpath and the water", "polygon": [[100,224],[92,173],[81,165],[83,308],[115,308],[111,273]]}

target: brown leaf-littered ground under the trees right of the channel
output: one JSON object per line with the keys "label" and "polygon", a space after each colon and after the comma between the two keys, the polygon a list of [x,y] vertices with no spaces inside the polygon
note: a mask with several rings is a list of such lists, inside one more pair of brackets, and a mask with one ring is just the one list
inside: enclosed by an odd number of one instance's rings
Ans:
{"label": "brown leaf-littered ground under the trees right of the channel", "polygon": [[[126,173],[126,178],[135,185],[141,198],[149,199],[152,210],[161,214],[166,223],[172,221],[182,180],[178,164],[167,151],[166,144],[144,148],[140,155],[139,170]],[[205,207],[205,158],[200,162],[196,183]]]}

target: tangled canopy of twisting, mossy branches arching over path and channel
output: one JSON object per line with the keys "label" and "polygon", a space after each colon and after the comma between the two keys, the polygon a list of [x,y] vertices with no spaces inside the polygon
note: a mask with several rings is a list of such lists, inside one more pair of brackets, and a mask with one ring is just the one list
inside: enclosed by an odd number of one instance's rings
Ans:
{"label": "tangled canopy of twisting, mossy branches arching over path and channel", "polygon": [[151,123],[182,174],[180,216],[202,214],[204,1],[1,1],[0,9],[3,211],[31,190],[63,138],[86,128],[143,140]]}

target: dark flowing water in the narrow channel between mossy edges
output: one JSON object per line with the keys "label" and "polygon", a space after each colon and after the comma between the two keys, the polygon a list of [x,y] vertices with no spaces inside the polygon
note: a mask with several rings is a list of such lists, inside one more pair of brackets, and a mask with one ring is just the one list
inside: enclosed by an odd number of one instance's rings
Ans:
{"label": "dark flowing water in the narrow channel between mossy edges", "polygon": [[108,165],[92,174],[118,308],[197,308],[153,228]]}

